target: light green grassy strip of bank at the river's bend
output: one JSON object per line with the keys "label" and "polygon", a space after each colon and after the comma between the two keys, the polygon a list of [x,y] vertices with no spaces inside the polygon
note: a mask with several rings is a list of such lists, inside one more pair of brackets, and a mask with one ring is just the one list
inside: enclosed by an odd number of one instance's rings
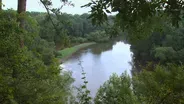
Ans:
{"label": "light green grassy strip of bank at the river's bend", "polygon": [[70,48],[65,48],[63,50],[59,50],[58,51],[58,56],[57,58],[59,58],[60,60],[65,60],[68,57],[70,57],[71,55],[73,55],[75,52],[77,52],[78,50],[88,47],[90,45],[96,44],[95,42],[90,42],[90,43],[82,43]]}

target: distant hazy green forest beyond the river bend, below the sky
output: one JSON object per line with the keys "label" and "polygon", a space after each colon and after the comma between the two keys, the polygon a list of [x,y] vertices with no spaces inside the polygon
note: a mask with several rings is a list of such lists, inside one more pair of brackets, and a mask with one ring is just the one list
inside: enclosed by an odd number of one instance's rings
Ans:
{"label": "distant hazy green forest beyond the river bend, below the sky", "polygon": [[57,24],[58,33],[47,13],[27,12],[27,14],[38,22],[40,37],[54,43],[57,50],[86,42],[107,42],[119,34],[118,31],[114,33],[115,29],[110,29],[114,25],[112,16],[109,16],[109,21],[106,24],[94,26],[87,19],[90,16],[89,14],[71,15],[63,13],[57,15],[57,17],[50,14],[54,24]]}

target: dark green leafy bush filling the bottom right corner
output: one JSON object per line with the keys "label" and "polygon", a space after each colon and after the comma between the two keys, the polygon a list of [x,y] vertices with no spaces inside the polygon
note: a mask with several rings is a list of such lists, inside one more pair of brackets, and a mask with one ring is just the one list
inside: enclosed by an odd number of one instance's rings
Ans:
{"label": "dark green leafy bush filling the bottom right corner", "polygon": [[[149,67],[147,67],[149,68]],[[153,72],[146,71],[133,78],[134,92],[145,104],[183,104],[183,66],[157,65]]]}

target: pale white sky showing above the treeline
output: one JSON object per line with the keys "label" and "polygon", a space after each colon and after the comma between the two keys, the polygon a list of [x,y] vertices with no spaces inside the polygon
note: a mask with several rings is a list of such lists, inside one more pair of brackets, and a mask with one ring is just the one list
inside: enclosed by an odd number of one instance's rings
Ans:
{"label": "pale white sky showing above the treeline", "polygon": [[[87,4],[90,0],[70,0],[74,3],[74,7],[72,6],[64,6],[62,12],[66,12],[68,14],[83,14],[88,13],[90,8],[81,8],[82,5]],[[5,7],[4,9],[17,9],[18,0],[2,0]],[[54,7],[60,7],[60,0],[52,0]],[[27,0],[27,11],[37,11],[37,12],[46,12],[43,5],[40,3],[40,0]]]}

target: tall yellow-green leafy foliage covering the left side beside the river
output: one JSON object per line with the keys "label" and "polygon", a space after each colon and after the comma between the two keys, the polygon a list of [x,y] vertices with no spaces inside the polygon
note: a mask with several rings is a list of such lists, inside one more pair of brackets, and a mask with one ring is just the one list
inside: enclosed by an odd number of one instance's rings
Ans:
{"label": "tall yellow-green leafy foliage covering the left side beside the river", "polygon": [[[53,53],[47,60],[49,62],[45,60],[47,55],[42,50],[48,47],[40,47],[41,44],[34,46],[40,41],[35,42],[40,39],[36,38],[38,34],[28,35],[34,31],[31,28],[27,28],[27,31],[20,29],[15,11],[0,11],[0,18],[0,103],[66,103],[73,82],[71,74],[60,71]],[[19,34],[22,31],[25,39],[33,43],[27,43],[24,48],[19,46]]]}

